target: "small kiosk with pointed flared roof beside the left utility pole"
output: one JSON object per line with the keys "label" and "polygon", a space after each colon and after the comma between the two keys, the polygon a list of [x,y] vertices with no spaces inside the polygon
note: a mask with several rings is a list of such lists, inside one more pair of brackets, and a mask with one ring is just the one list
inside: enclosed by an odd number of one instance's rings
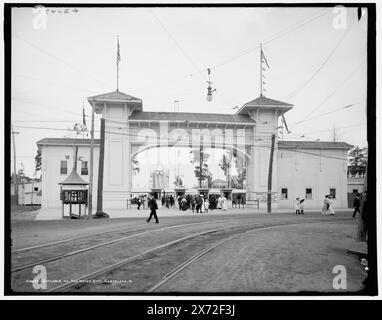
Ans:
{"label": "small kiosk with pointed flared roof beside the left utility pole", "polygon": [[[75,169],[62,182],[60,190],[61,216],[66,216],[71,219],[80,219],[86,216],[88,207],[88,185],[77,173]],[[68,210],[68,215],[65,215],[65,209]]]}

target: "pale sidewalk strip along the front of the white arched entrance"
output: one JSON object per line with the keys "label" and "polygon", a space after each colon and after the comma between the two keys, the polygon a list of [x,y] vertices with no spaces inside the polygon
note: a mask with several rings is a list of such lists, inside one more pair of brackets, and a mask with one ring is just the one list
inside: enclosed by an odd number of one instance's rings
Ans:
{"label": "pale sidewalk strip along the front of the white arched entrance", "polygon": [[[335,209],[336,212],[351,212],[352,209],[349,208],[339,208]],[[110,218],[142,218],[148,217],[150,210],[137,210],[136,208],[131,208],[129,210],[120,210],[120,209],[108,209],[104,210]],[[320,208],[317,209],[306,209],[305,213],[309,212],[321,212]],[[272,214],[278,213],[294,213],[294,209],[272,209]],[[157,210],[158,217],[177,217],[177,216],[190,216],[190,215],[226,215],[226,214],[267,214],[267,209],[260,208],[245,208],[237,209],[232,208],[228,210],[209,210],[208,213],[193,213],[191,210],[179,211],[178,208],[160,208]],[[61,208],[41,208],[36,216],[35,220],[61,220]]]}

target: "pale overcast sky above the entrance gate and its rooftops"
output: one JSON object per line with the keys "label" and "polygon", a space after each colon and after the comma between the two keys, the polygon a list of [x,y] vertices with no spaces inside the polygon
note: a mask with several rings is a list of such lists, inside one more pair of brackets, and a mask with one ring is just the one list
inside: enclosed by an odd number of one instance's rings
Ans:
{"label": "pale overcast sky above the entrance gate and its rooftops", "polygon": [[16,164],[29,176],[36,142],[74,137],[64,130],[82,121],[83,105],[91,114],[87,97],[116,89],[117,36],[119,89],[144,111],[174,111],[178,100],[184,112],[235,113],[259,96],[262,43],[264,95],[294,105],[284,140],[333,141],[335,132],[367,146],[367,13],[358,21],[346,9],[338,25],[338,11],[325,7],[68,9],[48,11],[45,29],[35,28],[32,8],[12,12],[11,117]]}

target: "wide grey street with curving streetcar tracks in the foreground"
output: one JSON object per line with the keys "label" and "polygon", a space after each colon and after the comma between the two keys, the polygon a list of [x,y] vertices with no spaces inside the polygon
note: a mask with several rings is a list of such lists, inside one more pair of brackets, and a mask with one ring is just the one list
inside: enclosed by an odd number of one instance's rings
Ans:
{"label": "wide grey street with curving streetcar tracks in the foreground", "polygon": [[[62,282],[81,279],[84,274],[93,274],[113,263],[120,264],[102,275],[92,276],[96,279],[92,285],[65,290],[148,292],[179,264],[223,241],[153,292],[336,292],[332,286],[336,265],[347,271],[347,289],[342,291],[362,289],[364,275],[359,259],[347,252],[356,244],[356,220],[351,218],[350,211],[336,216],[322,216],[319,212],[303,216],[251,214],[249,210],[224,214],[174,213],[160,215],[159,224],[148,224],[145,218],[146,215],[107,220],[15,220],[12,268],[45,259],[42,265],[47,268],[48,279]],[[211,233],[215,229],[222,231]],[[205,235],[195,236],[199,233]],[[179,242],[184,237],[188,240]],[[104,245],[106,242],[110,244]],[[97,246],[88,249],[94,245]],[[79,250],[84,252],[76,253]],[[146,255],[148,251],[155,254]],[[121,264],[132,257],[140,258]],[[32,277],[31,269],[15,271],[16,291],[33,292],[26,282]],[[49,284],[49,288],[54,286]]]}

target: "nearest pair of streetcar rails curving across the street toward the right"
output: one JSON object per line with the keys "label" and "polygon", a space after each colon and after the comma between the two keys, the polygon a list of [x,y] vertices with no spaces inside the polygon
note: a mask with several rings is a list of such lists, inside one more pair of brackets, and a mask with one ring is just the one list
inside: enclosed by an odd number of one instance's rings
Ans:
{"label": "nearest pair of streetcar rails curving across the street toward the right", "polygon": [[[321,220],[317,220],[315,218],[309,218],[309,220],[310,220],[309,222],[308,221],[301,221],[301,222],[297,222],[297,223],[282,223],[282,224],[277,224],[277,225],[273,225],[273,226],[264,226],[264,223],[254,223],[254,224],[251,224],[250,226],[253,227],[253,229],[246,230],[246,231],[241,232],[241,233],[239,233],[237,235],[231,236],[228,239],[221,240],[220,242],[218,242],[218,243],[216,243],[214,245],[211,245],[208,248],[203,249],[202,251],[200,251],[199,253],[197,253],[196,255],[191,257],[190,259],[186,260],[186,262],[184,262],[181,265],[179,265],[176,268],[174,268],[172,271],[167,273],[167,280],[165,282],[167,282],[170,278],[172,278],[176,273],[178,273],[181,270],[183,270],[184,268],[186,268],[188,265],[190,265],[193,262],[199,260],[202,256],[204,256],[209,251],[211,251],[211,250],[215,249],[216,247],[218,247],[219,245],[221,245],[221,244],[223,244],[223,243],[225,243],[225,242],[227,242],[229,240],[232,240],[233,238],[239,237],[240,235],[243,235],[243,234],[245,234],[247,232],[258,231],[258,230],[265,230],[265,229],[270,229],[270,228],[275,228],[275,227],[282,227],[282,226],[300,225],[300,224],[304,224],[304,223],[308,223],[309,224],[309,223],[330,223],[330,222],[341,222],[341,221],[348,222],[348,221],[352,221],[352,220],[349,220],[349,218],[340,218],[340,219],[337,218],[336,220],[330,220],[330,221],[321,221]],[[142,253],[139,253],[137,255],[134,255],[132,257],[123,259],[122,261],[119,261],[119,262],[114,263],[112,265],[106,266],[106,267],[104,267],[102,269],[99,269],[99,270],[96,270],[94,272],[91,272],[91,273],[89,273],[89,274],[87,274],[85,276],[81,276],[81,277],[77,278],[76,280],[71,281],[69,283],[65,283],[63,285],[51,288],[51,289],[47,290],[46,292],[63,291],[63,290],[69,289],[71,287],[75,287],[75,286],[81,284],[81,282],[84,282],[86,280],[92,279],[92,278],[94,278],[94,277],[96,277],[96,276],[98,276],[100,274],[104,274],[104,273],[113,271],[113,270],[115,270],[115,269],[117,269],[117,268],[119,268],[121,266],[127,265],[129,263],[135,262],[135,261],[139,260],[140,258],[145,257],[145,256],[147,256],[147,255],[149,255],[149,254],[151,254],[153,252],[159,251],[159,250],[164,249],[164,248],[169,248],[169,247],[174,246],[176,244],[185,242],[185,241],[187,241],[189,239],[196,238],[198,236],[212,234],[212,233],[216,233],[216,232],[219,232],[219,231],[222,231],[222,230],[235,229],[235,228],[240,229],[240,228],[243,228],[243,227],[248,227],[248,225],[237,225],[237,226],[228,226],[228,227],[223,227],[223,228],[218,228],[218,229],[212,229],[212,230],[208,230],[208,231],[199,232],[199,233],[196,233],[196,234],[191,234],[191,235],[182,237],[180,239],[172,240],[170,242],[167,242],[167,243],[164,243],[164,244],[162,244],[160,246],[157,246],[155,248],[146,250],[146,251],[144,251]],[[152,288],[154,288],[154,287],[152,287]],[[154,290],[155,289],[156,288],[154,288]]]}

